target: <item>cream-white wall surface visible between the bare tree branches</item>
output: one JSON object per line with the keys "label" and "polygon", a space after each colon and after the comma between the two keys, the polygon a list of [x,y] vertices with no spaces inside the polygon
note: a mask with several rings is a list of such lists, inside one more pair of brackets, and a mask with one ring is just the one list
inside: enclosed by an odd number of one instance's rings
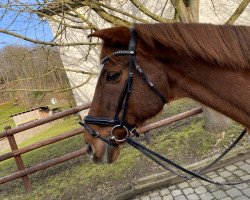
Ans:
{"label": "cream-white wall surface visible between the bare tree branches", "polygon": [[[242,0],[200,0],[200,22],[215,24],[225,23],[241,1]],[[164,6],[166,1],[141,0],[141,2],[143,2],[152,12],[160,14],[161,8]],[[129,1],[113,0],[110,4],[112,6],[117,6],[119,9],[122,9],[126,12],[134,14],[137,17],[144,17],[148,21],[154,22],[154,20],[150,19],[148,16],[138,12],[137,8],[134,7]],[[98,24],[99,28],[107,28],[111,26],[109,23],[101,19],[95,12],[88,11],[86,8],[79,8],[77,9],[77,12],[83,14],[84,17],[89,17],[89,20],[93,24]],[[163,16],[171,19],[173,18],[173,14],[174,9],[171,4],[168,4]],[[57,16],[57,19],[60,20],[60,17]],[[126,20],[131,19],[126,18]],[[131,22],[134,21],[131,20]],[[79,25],[75,22],[71,22],[71,24]],[[248,5],[247,9],[237,20],[236,24],[250,25],[250,5]],[[50,25],[55,35],[58,30],[58,23],[50,21]],[[86,24],[82,25],[86,26]],[[90,34],[90,30],[67,29],[66,35],[63,35],[63,37],[59,39],[67,42],[89,42],[87,39],[88,34]],[[95,39],[93,40],[95,41]],[[60,47],[60,52],[64,67],[66,69],[79,69],[95,72],[99,71],[99,46],[92,46],[90,49],[89,47],[83,45],[75,47]],[[83,83],[88,78],[88,75],[82,75],[74,72],[67,72],[67,76],[72,87]],[[97,78],[98,77],[95,76],[84,86],[73,90],[78,105],[91,101]]]}

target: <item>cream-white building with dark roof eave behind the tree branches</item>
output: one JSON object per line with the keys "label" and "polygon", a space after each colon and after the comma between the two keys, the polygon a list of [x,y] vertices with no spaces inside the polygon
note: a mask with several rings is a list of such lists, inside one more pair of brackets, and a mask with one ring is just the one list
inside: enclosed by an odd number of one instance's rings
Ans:
{"label": "cream-white building with dark roof eave behind the tree branches", "polygon": [[[197,0],[192,0],[197,2]],[[58,38],[58,42],[67,43],[88,43],[99,42],[95,38],[87,39],[95,26],[98,28],[111,27],[112,24],[108,22],[107,16],[103,14],[108,13],[118,18],[111,19],[113,24],[115,20],[123,19],[135,23],[143,22],[156,22],[152,15],[157,15],[165,19],[172,19],[174,17],[175,9],[171,4],[171,1],[165,0],[140,0],[142,6],[146,7],[151,16],[144,14],[129,0],[110,0],[110,1],[96,1],[98,5],[91,4],[90,1],[69,1],[69,0],[55,0],[47,8],[40,10],[40,17],[48,20],[53,34],[56,36],[63,28],[67,27],[67,31],[64,31]],[[166,3],[168,2],[168,3]],[[223,24],[233,14],[242,0],[200,0],[199,6],[199,22],[202,23],[214,23]],[[105,4],[106,7],[101,4]],[[87,5],[88,4],[88,5]],[[114,8],[113,10],[110,8]],[[119,13],[117,10],[129,13],[136,18],[142,19],[138,21],[135,18],[131,18],[128,15]],[[102,13],[101,13],[102,12]],[[146,11],[145,11],[146,12]],[[250,25],[250,5],[241,14],[236,24]],[[93,26],[95,25],[95,26]],[[82,28],[79,28],[82,26]],[[88,27],[92,26],[91,29]],[[77,28],[78,27],[78,28]],[[82,104],[91,101],[95,84],[98,75],[94,75],[90,78],[90,75],[86,73],[76,73],[75,70],[84,72],[99,72],[99,46],[98,45],[75,45],[75,46],[61,46],[59,47],[61,52],[61,58],[64,68],[67,71],[67,76],[73,94],[76,99],[76,103]],[[85,83],[86,84],[83,84]],[[82,85],[81,87],[78,87]]]}

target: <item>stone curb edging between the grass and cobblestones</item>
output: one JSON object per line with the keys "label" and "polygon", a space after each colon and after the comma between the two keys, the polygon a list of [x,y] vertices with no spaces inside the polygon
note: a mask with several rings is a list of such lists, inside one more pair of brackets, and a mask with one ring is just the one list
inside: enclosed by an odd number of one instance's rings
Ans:
{"label": "stone curb edging between the grass and cobblestones", "polygon": [[[219,155],[215,155],[211,158],[207,158],[200,162],[191,164],[186,166],[187,169],[190,170],[199,170],[207,166],[209,163],[214,161]],[[220,162],[213,166],[209,170],[205,172],[214,171],[219,168],[223,168],[227,165],[233,164],[235,162],[239,162],[242,160],[246,160],[250,158],[250,145],[245,147],[239,147],[237,149],[232,150],[222,159]],[[109,197],[108,199],[112,200],[128,200],[134,198],[136,195],[143,194],[149,192],[151,190],[156,190],[161,187],[167,187],[171,185],[175,185],[185,181],[184,178],[179,176],[173,176],[170,172],[163,172],[159,174],[154,174],[151,176],[147,176],[144,178],[139,179],[138,181],[131,184],[130,187],[124,189],[119,194],[116,194],[113,197]]]}

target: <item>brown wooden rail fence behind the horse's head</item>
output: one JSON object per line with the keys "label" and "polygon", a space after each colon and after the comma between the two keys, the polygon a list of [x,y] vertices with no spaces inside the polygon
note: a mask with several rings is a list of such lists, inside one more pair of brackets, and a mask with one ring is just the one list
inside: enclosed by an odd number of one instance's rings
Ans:
{"label": "brown wooden rail fence behind the horse's head", "polygon": [[[81,134],[84,132],[84,128],[80,127],[80,128],[74,129],[72,131],[65,132],[65,133],[62,133],[62,134],[57,135],[55,137],[46,139],[44,141],[40,141],[38,143],[31,144],[31,145],[26,146],[26,147],[21,148],[21,149],[18,149],[14,135],[16,133],[34,128],[36,126],[40,126],[42,124],[49,123],[51,121],[54,121],[54,120],[57,120],[57,119],[60,119],[63,117],[66,117],[66,116],[69,116],[72,114],[76,114],[82,110],[88,109],[89,107],[90,107],[90,103],[87,103],[87,104],[84,104],[81,106],[77,106],[77,107],[65,110],[65,111],[60,112],[60,113],[56,113],[56,114],[49,116],[49,117],[24,124],[24,125],[16,127],[16,128],[5,127],[5,131],[0,133],[0,139],[7,137],[12,151],[9,153],[6,153],[4,155],[0,155],[0,162],[7,160],[7,159],[10,159],[10,158],[14,158],[18,171],[14,172],[12,174],[9,174],[7,176],[4,176],[4,177],[0,177],[0,184],[4,184],[6,182],[9,182],[9,181],[17,179],[17,178],[22,178],[22,182],[23,182],[23,185],[25,187],[25,190],[27,192],[30,192],[32,190],[32,186],[31,186],[31,181],[28,177],[29,174],[41,171],[41,170],[46,169],[48,167],[51,167],[53,165],[57,165],[59,163],[62,163],[62,162],[68,161],[70,159],[76,158],[78,156],[84,155],[86,153],[86,151],[84,148],[82,148],[82,149],[79,149],[77,151],[74,151],[74,152],[62,155],[60,157],[57,157],[57,158],[47,160],[47,161],[42,162],[40,164],[31,166],[29,168],[26,168],[24,163],[23,163],[22,157],[21,157],[22,154],[25,154],[27,152],[33,151],[35,149],[38,149],[38,148],[41,148],[44,146],[47,146],[49,144],[53,144],[55,142],[70,138],[72,136]],[[137,131],[138,131],[138,133],[145,133],[145,132],[148,132],[150,130],[159,128],[161,126],[188,118],[188,117],[196,115],[196,114],[199,114],[201,112],[202,112],[201,108],[196,108],[196,109],[175,115],[173,117],[169,117],[169,118],[157,121],[155,123],[148,124],[144,127],[139,128]]]}

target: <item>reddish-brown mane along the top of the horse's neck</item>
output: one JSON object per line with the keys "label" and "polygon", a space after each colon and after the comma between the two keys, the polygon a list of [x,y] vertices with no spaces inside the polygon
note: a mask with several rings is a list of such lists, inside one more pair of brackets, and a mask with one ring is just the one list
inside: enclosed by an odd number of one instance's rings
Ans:
{"label": "reddish-brown mane along the top of the horse's neck", "polygon": [[159,48],[161,44],[180,55],[221,67],[250,68],[249,26],[159,23],[135,24],[135,28],[140,39],[151,48]]}

